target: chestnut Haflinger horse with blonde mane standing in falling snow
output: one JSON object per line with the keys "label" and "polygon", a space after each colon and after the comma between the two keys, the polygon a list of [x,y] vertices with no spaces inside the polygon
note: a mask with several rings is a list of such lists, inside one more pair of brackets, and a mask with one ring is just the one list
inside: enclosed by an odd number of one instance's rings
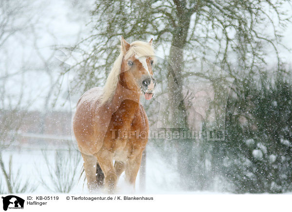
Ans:
{"label": "chestnut Haflinger horse with blonde mane standing in falling snow", "polygon": [[122,37],[120,48],[105,87],[85,92],[73,119],[90,191],[105,185],[114,193],[123,171],[134,188],[148,141],[148,119],[140,95],[150,100],[156,87],[152,39],[129,44]]}

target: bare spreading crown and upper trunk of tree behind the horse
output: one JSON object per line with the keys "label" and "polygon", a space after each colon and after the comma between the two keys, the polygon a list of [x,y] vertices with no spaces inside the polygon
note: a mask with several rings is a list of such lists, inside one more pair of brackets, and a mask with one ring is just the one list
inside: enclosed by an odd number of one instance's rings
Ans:
{"label": "bare spreading crown and upper trunk of tree behind the horse", "polygon": [[[174,103],[183,99],[182,85],[186,76],[198,76],[212,82],[220,77],[214,75],[214,71],[204,73],[187,69],[187,65],[207,60],[240,82],[242,75],[255,75],[265,64],[262,47],[266,44],[274,48],[279,64],[280,30],[290,20],[283,5],[289,2],[97,0],[92,11],[92,35],[77,46],[84,50],[84,60],[76,64],[82,69],[76,78],[85,90],[102,84],[104,73],[107,75],[118,54],[116,45],[121,35],[143,40],[154,36],[158,47],[163,43],[171,44],[166,57],[167,71],[160,71],[168,79],[168,94],[173,100],[169,102],[170,111],[177,111]],[[272,33],[263,30],[267,27],[272,28]],[[172,122],[177,123],[178,114],[173,112],[172,116]]]}

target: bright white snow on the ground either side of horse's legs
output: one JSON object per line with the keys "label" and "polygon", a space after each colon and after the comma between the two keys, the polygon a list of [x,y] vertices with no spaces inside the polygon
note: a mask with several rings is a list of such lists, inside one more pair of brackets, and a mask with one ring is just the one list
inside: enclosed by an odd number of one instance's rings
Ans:
{"label": "bright white snow on the ground either side of horse's legs", "polygon": [[[70,178],[73,173],[73,169],[75,164],[70,161],[68,157],[68,153],[66,149],[60,150],[64,155],[64,163],[70,163],[67,166],[67,169],[62,170],[64,173],[69,173],[68,177]],[[36,190],[29,194],[53,194],[56,193],[54,191],[50,191],[54,189],[54,183],[52,182],[52,178],[50,177],[50,172],[45,160],[45,156],[49,161],[49,165],[52,166],[52,173],[54,173],[55,167],[55,150],[46,150],[43,151],[41,149],[29,149],[26,145],[21,150],[8,150],[2,153],[3,161],[6,162],[4,164],[6,167],[8,166],[8,161],[10,156],[12,156],[13,162],[13,173],[17,173],[17,170],[20,168],[20,173],[17,178],[21,179],[21,182],[24,183],[27,179],[29,182],[29,187],[36,187]],[[79,154],[79,152],[74,151],[74,155]],[[90,194],[86,181],[84,181],[84,174],[81,179],[78,181],[80,177],[80,173],[82,170],[83,159],[79,155],[79,163],[75,167],[76,175],[74,177],[74,181],[76,185],[69,192],[70,194]],[[68,169],[69,168],[69,169]],[[136,191],[133,192],[125,182],[125,173],[119,179],[117,186],[117,194],[220,194],[218,192],[208,192],[208,191],[194,191],[188,192],[180,189],[180,180],[178,173],[175,172],[173,167],[170,164],[164,162],[161,158],[159,152],[155,151],[153,148],[149,146],[147,149],[147,157],[146,157],[146,189],[145,191],[141,191],[139,188],[139,178],[140,173],[138,173],[136,179]],[[1,180],[4,179],[1,176]],[[42,180],[46,182],[46,186],[42,183]],[[103,194],[104,191],[98,191],[97,194]]]}

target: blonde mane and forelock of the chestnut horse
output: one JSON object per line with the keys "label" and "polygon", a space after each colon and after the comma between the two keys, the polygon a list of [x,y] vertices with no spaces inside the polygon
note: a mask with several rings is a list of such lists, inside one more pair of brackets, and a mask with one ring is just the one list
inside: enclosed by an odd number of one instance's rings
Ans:
{"label": "blonde mane and forelock of the chestnut horse", "polygon": [[127,60],[133,55],[135,55],[136,58],[142,57],[142,56],[153,56],[154,49],[150,43],[143,42],[143,41],[134,41],[130,44],[130,48],[125,55],[121,51],[120,55],[113,63],[112,69],[110,71],[105,87],[103,89],[103,94],[101,96],[102,105],[109,102],[112,99],[113,94],[117,88],[117,85],[120,79],[119,76],[121,72],[123,57],[125,57],[125,60]]}

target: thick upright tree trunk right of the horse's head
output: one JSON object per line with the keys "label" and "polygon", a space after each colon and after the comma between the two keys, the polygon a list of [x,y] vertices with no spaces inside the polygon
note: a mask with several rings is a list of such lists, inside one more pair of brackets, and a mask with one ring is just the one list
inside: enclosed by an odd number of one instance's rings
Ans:
{"label": "thick upright tree trunk right of the horse's head", "polygon": [[[175,1],[177,5],[176,13],[178,17],[178,25],[176,26],[170,52],[169,52],[169,66],[168,66],[168,106],[169,120],[168,122],[172,130],[185,130],[189,129],[186,123],[186,109],[183,102],[183,49],[186,44],[186,38],[190,25],[191,14],[186,9],[184,1]],[[180,109],[179,107],[180,106]],[[174,129],[175,128],[175,129]],[[183,188],[190,190],[193,189],[192,170],[193,159],[191,157],[193,142],[183,138],[177,140],[178,151],[178,172],[181,176]]]}

